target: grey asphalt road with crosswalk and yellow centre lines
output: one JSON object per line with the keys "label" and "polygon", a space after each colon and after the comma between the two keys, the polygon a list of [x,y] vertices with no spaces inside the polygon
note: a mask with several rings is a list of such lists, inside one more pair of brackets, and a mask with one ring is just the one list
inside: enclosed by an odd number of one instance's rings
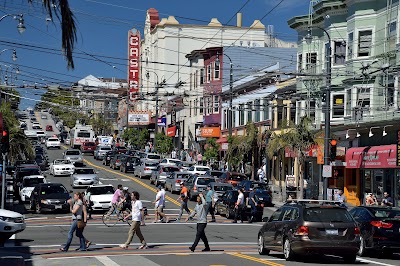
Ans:
{"label": "grey asphalt road with crosswalk and yellow centre lines", "polygon": [[[50,160],[60,158],[61,153],[62,150],[48,151]],[[2,263],[7,256],[21,257],[25,265],[346,265],[334,256],[312,256],[296,262],[286,262],[278,252],[260,256],[257,252],[256,238],[262,223],[232,224],[230,220],[218,216],[217,222],[209,223],[206,228],[211,251],[201,252],[204,245],[200,241],[197,250],[192,253],[188,247],[195,237],[195,223],[152,223],[154,216],[151,201],[155,198],[155,187],[150,185],[148,180],[138,179],[130,173],[111,170],[102,166],[100,161],[95,161],[93,156],[85,155],[84,158],[87,167],[97,169],[102,183],[113,186],[123,184],[141,194],[141,200],[148,207],[150,214],[146,226],[142,227],[149,249],[138,250],[137,237],[134,237],[128,250],[120,249],[118,245],[125,242],[128,226],[120,224],[106,227],[101,221],[101,213],[97,213],[84,231],[85,237],[93,242],[89,251],[75,251],[78,246],[75,237],[70,251],[61,252],[59,248],[67,239],[70,214],[34,214],[22,208],[21,212],[25,212],[26,215],[27,228],[19,233],[15,240],[9,240],[5,248],[0,248],[0,265],[12,265],[11,262]],[[72,189],[69,177],[53,177],[47,174],[47,178],[50,182],[61,182],[67,189]],[[170,192],[167,192],[167,195],[166,213],[173,218],[179,212],[176,202],[178,195],[172,195]],[[190,202],[189,207],[193,208],[194,202]],[[274,208],[265,208],[264,216],[270,216],[273,211]],[[391,266],[399,265],[399,261],[400,256],[395,255],[390,259],[358,258],[357,264]]]}

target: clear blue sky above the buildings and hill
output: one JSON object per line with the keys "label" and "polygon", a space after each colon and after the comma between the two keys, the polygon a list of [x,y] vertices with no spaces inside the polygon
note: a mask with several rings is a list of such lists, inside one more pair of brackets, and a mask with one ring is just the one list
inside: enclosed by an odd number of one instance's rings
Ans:
{"label": "clear blue sky above the buildings and hill", "polygon": [[[0,50],[16,48],[20,75],[18,82],[71,84],[92,74],[98,77],[126,78],[127,32],[143,30],[147,9],[159,11],[160,18],[173,15],[181,24],[207,24],[216,17],[222,24],[235,25],[235,13],[241,8],[243,26],[263,18],[281,0],[69,0],[78,28],[74,53],[75,69],[67,70],[61,54],[61,29],[57,19],[46,23],[41,0],[0,1],[0,16],[23,13],[26,32],[20,35],[17,22],[3,19],[0,27]],[[278,38],[295,41],[296,32],[287,20],[307,14],[308,0],[284,0],[278,8],[262,19],[274,25]],[[0,64],[10,65],[11,51],[0,55]],[[94,56],[91,56],[94,55]],[[113,68],[112,66],[115,66]],[[1,72],[4,74],[4,70]],[[27,94],[29,96],[29,93]],[[33,93],[32,93],[33,97]]]}

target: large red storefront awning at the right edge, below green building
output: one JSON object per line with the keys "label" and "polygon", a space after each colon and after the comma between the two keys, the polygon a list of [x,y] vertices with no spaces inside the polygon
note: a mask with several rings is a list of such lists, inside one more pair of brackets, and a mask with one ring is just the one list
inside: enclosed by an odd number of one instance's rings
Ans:
{"label": "large red storefront awning at the right edge, below green building", "polygon": [[346,168],[398,168],[397,145],[350,148],[346,152]]}

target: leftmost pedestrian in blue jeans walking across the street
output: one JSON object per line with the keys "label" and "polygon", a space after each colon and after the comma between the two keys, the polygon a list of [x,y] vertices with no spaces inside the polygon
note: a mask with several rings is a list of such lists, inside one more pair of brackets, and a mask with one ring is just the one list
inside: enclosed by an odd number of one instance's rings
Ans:
{"label": "leftmost pedestrian in blue jeans walking across the street", "polygon": [[68,200],[70,203],[70,210],[72,212],[72,223],[71,228],[68,232],[67,243],[63,248],[60,248],[61,251],[68,251],[69,246],[71,245],[72,238],[74,236],[74,232],[76,231],[76,236],[79,237],[79,251],[86,251],[86,243],[85,237],[83,236],[83,229],[86,225],[87,213],[86,208],[83,204],[83,195],[79,192],[74,193],[74,204],[72,205],[72,200]]}

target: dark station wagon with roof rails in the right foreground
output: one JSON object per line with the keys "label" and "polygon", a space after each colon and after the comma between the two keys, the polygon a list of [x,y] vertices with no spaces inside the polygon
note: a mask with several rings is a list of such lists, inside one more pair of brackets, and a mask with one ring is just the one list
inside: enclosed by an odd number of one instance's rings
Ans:
{"label": "dark station wagon with roof rails in the right foreground", "polygon": [[275,250],[290,261],[298,255],[327,254],[354,263],[360,229],[347,209],[335,203],[291,201],[271,215],[257,240],[261,255]]}

